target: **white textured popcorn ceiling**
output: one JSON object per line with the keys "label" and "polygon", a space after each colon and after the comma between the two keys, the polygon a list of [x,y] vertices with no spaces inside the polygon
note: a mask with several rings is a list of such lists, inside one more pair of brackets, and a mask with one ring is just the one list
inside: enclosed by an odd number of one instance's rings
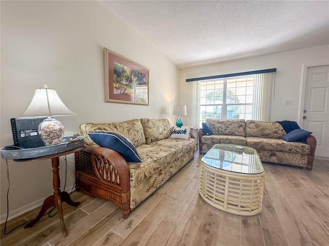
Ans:
{"label": "white textured popcorn ceiling", "polygon": [[329,44],[329,1],[100,3],[181,69]]}

